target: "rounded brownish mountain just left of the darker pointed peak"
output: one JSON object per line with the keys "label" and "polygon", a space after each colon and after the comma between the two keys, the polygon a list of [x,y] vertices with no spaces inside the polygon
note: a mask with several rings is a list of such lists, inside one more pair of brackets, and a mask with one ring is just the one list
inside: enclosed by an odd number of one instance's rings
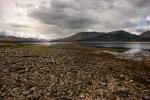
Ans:
{"label": "rounded brownish mountain just left of the darker pointed peak", "polygon": [[72,41],[82,41],[82,40],[86,40],[89,38],[93,38],[93,37],[97,37],[101,34],[105,34],[104,32],[80,32],[80,33],[76,33],[70,37],[66,37],[63,39],[58,39],[58,40],[54,40],[54,41],[61,41],[61,42],[72,42]]}

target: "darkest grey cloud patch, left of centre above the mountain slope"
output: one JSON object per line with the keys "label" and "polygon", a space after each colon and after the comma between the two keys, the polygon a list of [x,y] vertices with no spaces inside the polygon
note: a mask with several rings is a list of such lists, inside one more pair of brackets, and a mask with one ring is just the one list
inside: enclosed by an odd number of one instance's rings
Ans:
{"label": "darkest grey cloud patch, left of centre above the mountain slope", "polygon": [[30,13],[30,16],[61,28],[80,29],[87,28],[96,23],[96,20],[86,12],[76,10],[71,3],[51,2],[52,8],[40,7]]}

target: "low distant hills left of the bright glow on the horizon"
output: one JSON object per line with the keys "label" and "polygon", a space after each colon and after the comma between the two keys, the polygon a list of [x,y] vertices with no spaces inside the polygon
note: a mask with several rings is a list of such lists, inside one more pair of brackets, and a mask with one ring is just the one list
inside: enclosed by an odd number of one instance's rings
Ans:
{"label": "low distant hills left of the bright glow on the horizon", "polygon": [[0,42],[38,42],[40,40],[33,38],[21,38],[15,36],[0,35]]}

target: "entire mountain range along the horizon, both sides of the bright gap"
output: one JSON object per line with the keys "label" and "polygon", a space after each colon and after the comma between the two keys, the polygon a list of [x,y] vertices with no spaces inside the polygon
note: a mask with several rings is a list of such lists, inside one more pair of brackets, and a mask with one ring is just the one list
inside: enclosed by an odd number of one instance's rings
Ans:
{"label": "entire mountain range along the horizon, both sides of the bright gap", "polygon": [[[15,36],[0,35],[0,42],[43,42],[34,38],[21,38]],[[50,42],[142,42],[150,41],[150,31],[141,35],[134,35],[124,30],[113,32],[79,32],[70,37],[51,40]]]}

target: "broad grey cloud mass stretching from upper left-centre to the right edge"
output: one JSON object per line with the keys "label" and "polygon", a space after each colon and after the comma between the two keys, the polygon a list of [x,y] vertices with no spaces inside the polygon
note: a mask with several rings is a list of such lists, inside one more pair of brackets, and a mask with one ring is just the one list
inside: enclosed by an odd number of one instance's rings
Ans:
{"label": "broad grey cloud mass stretching from upper left-centre to the right edge", "polygon": [[42,5],[29,15],[42,23],[64,29],[94,27],[97,30],[101,27],[111,30],[136,27],[130,19],[142,16],[140,9],[148,6],[149,0],[52,0],[49,3],[50,7]]}

